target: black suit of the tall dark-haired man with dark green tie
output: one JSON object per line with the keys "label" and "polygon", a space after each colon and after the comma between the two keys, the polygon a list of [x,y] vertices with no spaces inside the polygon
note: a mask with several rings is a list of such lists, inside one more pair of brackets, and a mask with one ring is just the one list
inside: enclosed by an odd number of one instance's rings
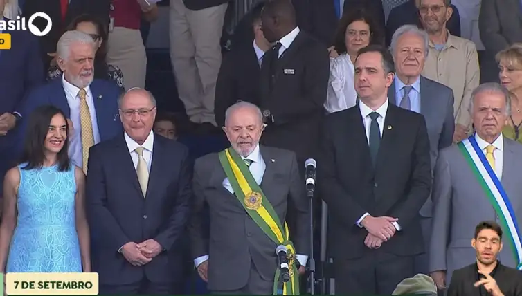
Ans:
{"label": "black suit of the tall dark-haired man with dark green tie", "polygon": [[[322,136],[317,184],[328,205],[336,293],[390,295],[424,252],[419,210],[431,188],[424,117],[388,105],[375,169],[359,105],[328,115]],[[399,219],[401,230],[377,250],[356,225],[366,212]]]}

